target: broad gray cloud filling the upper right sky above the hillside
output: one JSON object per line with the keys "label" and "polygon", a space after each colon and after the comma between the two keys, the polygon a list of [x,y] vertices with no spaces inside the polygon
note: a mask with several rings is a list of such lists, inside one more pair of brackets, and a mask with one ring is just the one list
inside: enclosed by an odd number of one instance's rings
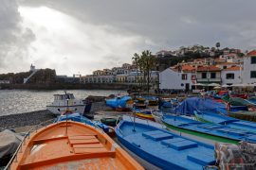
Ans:
{"label": "broad gray cloud filling the upper right sky above the hillside", "polygon": [[[194,43],[214,45],[216,41],[244,49],[255,44],[255,37],[243,33],[256,28],[251,26],[256,21],[254,0],[27,0],[25,3],[57,8],[85,23],[107,24],[136,32],[159,44],[153,50]],[[241,22],[242,30],[230,30],[232,26],[241,26]],[[230,41],[233,38],[237,40]]]}

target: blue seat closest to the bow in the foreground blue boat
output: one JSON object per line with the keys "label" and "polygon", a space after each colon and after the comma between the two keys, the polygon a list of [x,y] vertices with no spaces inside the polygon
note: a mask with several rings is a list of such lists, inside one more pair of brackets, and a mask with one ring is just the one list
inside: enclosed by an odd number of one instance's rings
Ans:
{"label": "blue seat closest to the bow in the foreground blue boat", "polygon": [[150,139],[155,140],[155,141],[171,139],[171,138],[174,137],[172,134],[163,132],[161,130],[143,132],[142,136],[144,136],[146,138],[150,138]]}

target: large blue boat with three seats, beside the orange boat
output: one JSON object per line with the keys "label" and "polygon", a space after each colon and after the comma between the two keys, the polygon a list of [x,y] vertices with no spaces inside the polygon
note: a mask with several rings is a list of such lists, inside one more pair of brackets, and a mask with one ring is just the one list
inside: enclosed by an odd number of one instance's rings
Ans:
{"label": "large blue boat with three seats, beside the orange boat", "polygon": [[134,122],[134,117],[129,118],[115,128],[119,142],[156,167],[203,169],[215,163],[212,145],[178,136],[150,121],[136,118]]}

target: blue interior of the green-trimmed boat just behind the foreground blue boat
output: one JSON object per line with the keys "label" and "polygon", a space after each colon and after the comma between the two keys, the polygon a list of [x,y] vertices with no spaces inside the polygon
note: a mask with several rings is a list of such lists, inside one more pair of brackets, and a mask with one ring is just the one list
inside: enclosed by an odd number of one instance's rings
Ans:
{"label": "blue interior of the green-trimmed boat just behind the foreground blue boat", "polygon": [[250,143],[256,143],[256,132],[248,130],[235,129],[210,123],[202,123],[196,120],[174,115],[163,115],[162,121],[174,127],[180,127],[192,131],[224,137],[235,141],[247,141]]}

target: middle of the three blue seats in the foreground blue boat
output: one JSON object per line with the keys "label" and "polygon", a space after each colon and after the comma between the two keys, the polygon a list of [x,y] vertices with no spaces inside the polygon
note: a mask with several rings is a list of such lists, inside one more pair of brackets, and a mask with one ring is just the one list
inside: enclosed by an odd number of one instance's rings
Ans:
{"label": "middle of the three blue seats in the foreground blue boat", "polygon": [[174,148],[175,150],[184,150],[192,147],[197,147],[197,144],[182,138],[174,138],[161,141],[161,144]]}

